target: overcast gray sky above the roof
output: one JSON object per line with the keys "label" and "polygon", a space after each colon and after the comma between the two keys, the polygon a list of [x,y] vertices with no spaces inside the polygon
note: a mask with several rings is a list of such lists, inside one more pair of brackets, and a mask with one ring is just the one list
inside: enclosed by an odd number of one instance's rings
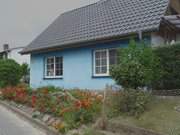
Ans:
{"label": "overcast gray sky above the roof", "polygon": [[0,46],[26,46],[61,13],[97,1],[0,0]]}

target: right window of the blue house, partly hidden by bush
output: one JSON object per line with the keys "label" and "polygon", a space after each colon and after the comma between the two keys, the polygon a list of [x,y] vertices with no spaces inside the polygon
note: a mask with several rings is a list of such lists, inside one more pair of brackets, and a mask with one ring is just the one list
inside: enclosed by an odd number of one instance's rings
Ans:
{"label": "right window of the blue house, partly hidden by bush", "polygon": [[110,66],[117,64],[117,49],[94,51],[94,76],[109,76]]}

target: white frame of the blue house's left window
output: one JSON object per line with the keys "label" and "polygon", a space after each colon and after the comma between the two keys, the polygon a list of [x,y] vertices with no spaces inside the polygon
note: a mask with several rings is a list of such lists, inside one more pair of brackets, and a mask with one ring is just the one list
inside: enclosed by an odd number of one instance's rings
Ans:
{"label": "white frame of the blue house's left window", "polygon": [[[63,75],[60,75],[60,76],[57,76],[56,75],[56,57],[62,57],[62,56],[50,56],[50,57],[46,57],[45,58],[45,78],[47,78],[47,79],[53,79],[53,78],[62,78],[63,77]],[[54,75],[53,76],[48,76],[47,75],[47,60],[49,59],[49,58],[53,58],[54,59]],[[62,57],[62,64],[63,64],[63,57]],[[62,68],[63,68],[63,66],[62,66]],[[63,72],[63,69],[62,69],[62,72]]]}

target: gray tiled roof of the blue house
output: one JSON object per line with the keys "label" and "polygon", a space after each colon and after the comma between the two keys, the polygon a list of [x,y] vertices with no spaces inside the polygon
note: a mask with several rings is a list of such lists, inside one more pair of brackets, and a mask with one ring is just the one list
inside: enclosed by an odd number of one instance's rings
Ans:
{"label": "gray tiled roof of the blue house", "polygon": [[169,0],[100,0],[62,14],[23,53],[159,27]]}

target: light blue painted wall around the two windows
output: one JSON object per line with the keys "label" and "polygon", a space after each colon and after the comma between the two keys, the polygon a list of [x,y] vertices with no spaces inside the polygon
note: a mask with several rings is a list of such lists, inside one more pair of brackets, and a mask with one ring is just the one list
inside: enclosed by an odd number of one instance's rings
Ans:
{"label": "light blue painted wall around the two windows", "polygon": [[[115,82],[110,77],[92,77],[93,50],[126,47],[128,42],[128,40],[121,40],[89,47],[31,54],[30,85],[33,88],[53,85],[67,89],[104,89],[106,85],[112,85]],[[44,79],[44,59],[48,56],[63,56],[64,71],[62,79]]]}

